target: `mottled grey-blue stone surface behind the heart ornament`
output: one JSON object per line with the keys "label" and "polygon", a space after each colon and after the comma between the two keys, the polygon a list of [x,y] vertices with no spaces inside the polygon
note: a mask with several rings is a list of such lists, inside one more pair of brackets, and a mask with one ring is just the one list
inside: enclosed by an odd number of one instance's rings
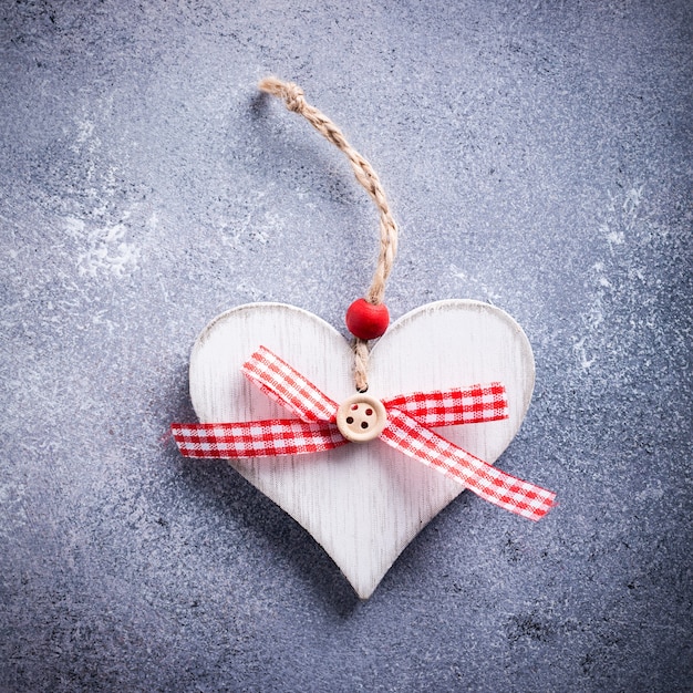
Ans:
{"label": "mottled grey-blue stone surface behind the heart ornament", "polygon": [[[687,0],[20,1],[0,23],[2,691],[692,690]],[[490,301],[537,389],[361,603],[288,516],[182,459],[189,349],[277,300],[334,325],[375,215],[258,79],[381,174],[394,317]]]}

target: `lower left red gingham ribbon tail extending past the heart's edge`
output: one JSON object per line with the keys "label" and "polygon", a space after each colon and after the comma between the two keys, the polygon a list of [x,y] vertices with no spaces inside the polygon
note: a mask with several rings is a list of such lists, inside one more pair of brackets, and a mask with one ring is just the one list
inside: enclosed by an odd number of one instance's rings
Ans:
{"label": "lower left red gingham ribbon tail extending past the heart's edge", "polygon": [[319,453],[345,445],[335,424],[289,418],[229,424],[172,424],[185,457],[241,458]]}

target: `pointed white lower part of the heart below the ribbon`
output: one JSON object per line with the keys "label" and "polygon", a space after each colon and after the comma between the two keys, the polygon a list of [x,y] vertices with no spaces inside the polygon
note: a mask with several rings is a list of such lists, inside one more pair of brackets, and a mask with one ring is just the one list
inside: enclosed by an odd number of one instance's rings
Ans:
{"label": "pointed white lower part of the heart below the ribbon", "polygon": [[[370,454],[349,459],[348,451],[353,446],[340,448],[343,458],[334,459],[334,453],[311,455],[308,466],[306,455],[266,461],[279,462],[271,482],[261,472],[257,474],[254,463],[230,462],[254,486],[262,483],[262,492],[310,532],[360,599],[373,593],[412,539],[462,492],[458,484],[431,468],[403,464],[380,441],[356,447],[366,453],[371,445],[377,451],[375,461]],[[282,505],[289,484],[320,488],[317,497],[321,505],[334,509],[332,521],[324,521],[324,514],[310,503]],[[370,501],[363,503],[362,495],[353,489],[366,485],[381,490],[372,492]],[[358,517],[352,507],[359,508]]]}

